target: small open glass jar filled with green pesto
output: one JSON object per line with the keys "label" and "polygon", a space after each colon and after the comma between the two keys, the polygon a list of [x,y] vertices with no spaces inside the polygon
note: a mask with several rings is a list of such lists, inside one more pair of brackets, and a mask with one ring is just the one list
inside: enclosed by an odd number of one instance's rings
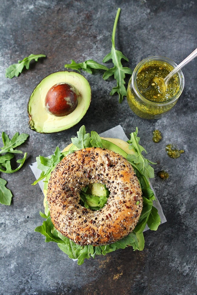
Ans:
{"label": "small open glass jar filled with green pesto", "polygon": [[[129,79],[126,93],[128,105],[136,115],[144,119],[159,119],[174,107],[184,88],[182,71],[179,70],[172,80],[170,79],[168,89],[166,89],[165,84],[165,87],[162,87],[161,82],[175,67],[176,64],[173,61],[167,57],[159,56],[147,57],[136,65]],[[158,77],[155,75],[158,75]],[[150,85],[152,82],[153,84],[156,82],[155,85]],[[141,83],[141,86],[139,83]],[[152,93],[149,95],[147,93],[142,94],[139,87],[142,87],[142,92],[147,92],[147,88],[149,88]],[[164,95],[164,93],[167,94]],[[149,98],[145,97],[146,94]]]}

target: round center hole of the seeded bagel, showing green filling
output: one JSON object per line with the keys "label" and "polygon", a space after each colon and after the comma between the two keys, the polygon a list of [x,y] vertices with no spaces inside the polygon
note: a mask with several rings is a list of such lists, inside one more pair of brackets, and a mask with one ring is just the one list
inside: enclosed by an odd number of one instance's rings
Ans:
{"label": "round center hole of the seeded bagel, showing green filling", "polygon": [[91,183],[80,192],[79,205],[92,211],[100,210],[105,206],[110,191],[102,183]]}

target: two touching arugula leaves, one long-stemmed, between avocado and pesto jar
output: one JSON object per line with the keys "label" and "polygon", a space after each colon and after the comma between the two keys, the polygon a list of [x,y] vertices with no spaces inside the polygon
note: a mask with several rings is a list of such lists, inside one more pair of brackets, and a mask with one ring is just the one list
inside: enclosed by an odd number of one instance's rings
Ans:
{"label": "two touching arugula leaves, one long-stemmed, between avocado and pesto jar", "polygon": [[93,61],[92,59],[87,60],[82,63],[76,63],[74,60],[71,60],[71,64],[65,64],[66,68],[70,68],[73,70],[78,70],[80,72],[80,69],[92,74],[91,69],[99,69],[99,70],[105,70],[103,74],[103,79],[107,80],[109,77],[114,76],[115,80],[117,81],[116,87],[113,87],[110,95],[114,95],[115,93],[119,94],[119,103],[122,103],[123,97],[126,96],[126,88],[125,88],[125,74],[132,74],[132,70],[129,67],[123,67],[121,60],[124,59],[125,61],[129,61],[128,58],[122,54],[121,51],[115,49],[115,31],[119,19],[121,9],[118,8],[113,31],[112,31],[112,48],[109,54],[107,54],[102,62],[106,63],[109,60],[112,60],[114,66],[111,68],[108,68],[102,64],[99,64],[96,61]]}

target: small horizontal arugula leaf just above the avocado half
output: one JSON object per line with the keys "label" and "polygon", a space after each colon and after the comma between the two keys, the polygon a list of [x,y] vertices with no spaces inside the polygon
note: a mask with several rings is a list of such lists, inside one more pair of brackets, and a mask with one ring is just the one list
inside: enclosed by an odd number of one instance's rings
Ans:
{"label": "small horizontal arugula leaf just above the avocado half", "polygon": [[77,70],[79,73],[81,73],[80,69],[82,69],[89,74],[92,74],[91,69],[108,70],[108,67],[103,64],[99,64],[96,61],[93,61],[93,59],[88,59],[87,61],[78,64],[72,59],[71,64],[65,64],[64,67],[70,68],[72,70]]}

